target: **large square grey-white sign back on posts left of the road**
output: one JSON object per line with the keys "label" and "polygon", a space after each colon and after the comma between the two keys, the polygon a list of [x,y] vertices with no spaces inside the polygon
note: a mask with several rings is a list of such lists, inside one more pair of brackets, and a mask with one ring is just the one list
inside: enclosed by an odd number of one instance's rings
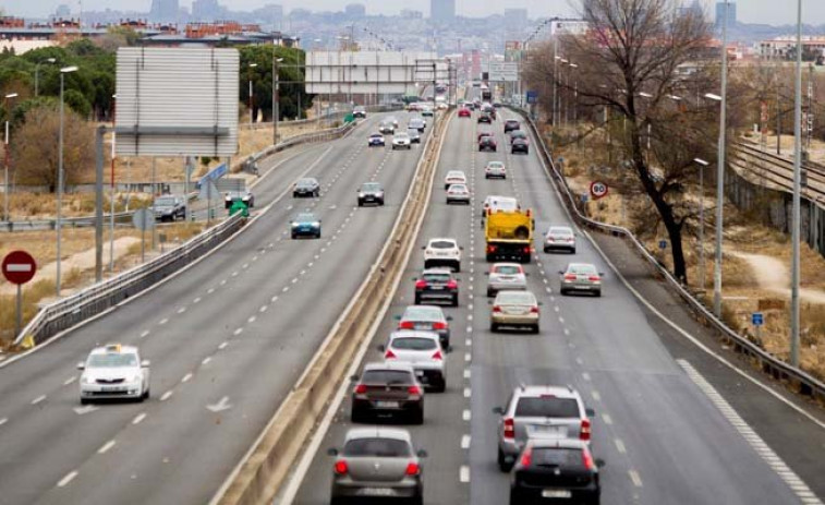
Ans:
{"label": "large square grey-white sign back on posts left of the road", "polygon": [[118,49],[118,155],[234,155],[239,65],[229,48]]}

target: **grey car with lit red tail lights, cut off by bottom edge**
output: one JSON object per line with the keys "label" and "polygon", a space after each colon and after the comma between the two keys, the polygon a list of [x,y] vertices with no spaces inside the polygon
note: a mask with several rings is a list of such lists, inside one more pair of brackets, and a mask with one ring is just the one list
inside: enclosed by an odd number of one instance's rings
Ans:
{"label": "grey car with lit red tail lights, cut off by bottom edge", "polygon": [[327,453],[336,458],[332,505],[369,498],[423,503],[421,458],[427,454],[413,448],[407,430],[353,428],[347,432],[340,450],[330,448]]}

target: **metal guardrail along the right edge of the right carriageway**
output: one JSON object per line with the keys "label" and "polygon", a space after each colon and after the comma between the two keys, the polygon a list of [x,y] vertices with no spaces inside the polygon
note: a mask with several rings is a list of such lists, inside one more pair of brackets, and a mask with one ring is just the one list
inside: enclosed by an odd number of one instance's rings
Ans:
{"label": "metal guardrail along the right edge of the right carriageway", "polygon": [[672,274],[667,270],[667,268],[664,268],[659,264],[659,262],[656,261],[656,258],[650,253],[650,251],[647,251],[644,244],[642,244],[642,242],[633,235],[633,232],[624,227],[596,221],[582,214],[577,205],[578,201],[575,196],[570,191],[570,187],[568,185],[565,177],[556,168],[556,165],[553,160],[553,155],[547,149],[544,137],[539,134],[535,123],[532,119],[530,119],[526,112],[521,110],[517,110],[517,112],[521,113],[524,118],[527,119],[527,124],[530,125],[530,129],[532,130],[533,135],[536,137],[537,144],[539,146],[539,158],[542,159],[542,165],[545,169],[545,172],[547,173],[547,177],[553,180],[554,183],[556,183],[559,192],[566,196],[563,202],[565,205],[580,224],[583,224],[591,229],[605,231],[614,236],[630,240],[635,247],[636,252],[639,252],[645,260],[647,260],[647,262],[665,278],[667,284],[677,293],[679,293],[679,296],[696,314],[699,314],[702,318],[704,318],[713,327],[715,327],[716,330],[718,330],[723,335],[723,337],[728,339],[737,352],[745,354],[749,358],[755,360],[759,363],[760,369],[764,373],[771,374],[775,380],[791,383],[797,388],[798,393],[805,396],[811,396],[813,398],[825,399],[825,383],[818,381],[816,377],[810,375],[803,370],[786,363],[785,361],[776,358],[775,356],[757,347],[747,338],[737,334],[733,329],[726,325],[725,322],[716,317],[713,312],[711,312],[699,299],[696,299],[687,289],[686,286],[679,282],[679,280],[677,280],[676,277],[674,277]]}

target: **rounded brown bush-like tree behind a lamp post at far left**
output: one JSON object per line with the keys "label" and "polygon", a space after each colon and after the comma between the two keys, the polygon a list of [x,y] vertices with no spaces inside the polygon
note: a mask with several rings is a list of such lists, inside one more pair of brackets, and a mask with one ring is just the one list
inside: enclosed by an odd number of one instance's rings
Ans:
{"label": "rounded brown bush-like tree behind a lamp post at far left", "polygon": [[[76,183],[94,168],[94,129],[77,113],[64,110],[63,170],[66,183]],[[56,104],[44,104],[26,112],[12,143],[14,178],[17,183],[58,182],[60,116]]]}

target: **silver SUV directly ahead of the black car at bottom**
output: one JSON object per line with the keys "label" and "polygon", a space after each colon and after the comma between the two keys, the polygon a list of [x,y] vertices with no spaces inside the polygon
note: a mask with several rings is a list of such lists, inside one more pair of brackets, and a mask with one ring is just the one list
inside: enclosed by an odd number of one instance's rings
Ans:
{"label": "silver SUV directly ahead of the black car at bottom", "polygon": [[578,438],[590,443],[593,410],[570,386],[519,386],[506,407],[493,409],[498,420],[498,466],[509,471],[531,437]]}

